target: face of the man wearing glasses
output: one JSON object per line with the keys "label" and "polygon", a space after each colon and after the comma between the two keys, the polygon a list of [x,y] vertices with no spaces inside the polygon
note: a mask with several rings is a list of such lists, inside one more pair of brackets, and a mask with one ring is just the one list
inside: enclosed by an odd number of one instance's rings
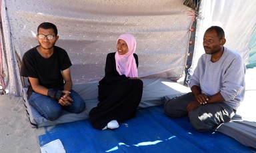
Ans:
{"label": "face of the man wearing glasses", "polygon": [[43,49],[52,49],[58,39],[59,37],[55,35],[53,29],[39,28],[37,40]]}

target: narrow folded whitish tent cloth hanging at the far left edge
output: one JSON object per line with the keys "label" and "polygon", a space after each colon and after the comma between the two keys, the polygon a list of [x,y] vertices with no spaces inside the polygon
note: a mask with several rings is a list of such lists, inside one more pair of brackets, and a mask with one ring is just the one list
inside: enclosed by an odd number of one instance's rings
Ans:
{"label": "narrow folded whitish tent cloth hanging at the far left edge", "polygon": [[[17,64],[17,51],[14,48],[15,35],[11,31],[10,20],[7,15],[5,1],[1,1],[1,82],[5,93],[21,96],[22,86],[19,77],[19,67]],[[15,22],[15,21],[13,21]]]}

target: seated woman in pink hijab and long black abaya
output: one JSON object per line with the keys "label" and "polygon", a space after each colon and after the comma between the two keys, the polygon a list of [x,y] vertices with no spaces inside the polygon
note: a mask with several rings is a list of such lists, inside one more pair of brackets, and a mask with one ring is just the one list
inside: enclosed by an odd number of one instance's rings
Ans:
{"label": "seated woman in pink hijab and long black abaya", "polygon": [[138,78],[135,50],[135,37],[123,33],[117,39],[117,51],[107,55],[105,76],[99,81],[99,104],[89,113],[94,128],[118,128],[119,122],[136,116],[143,82]]}

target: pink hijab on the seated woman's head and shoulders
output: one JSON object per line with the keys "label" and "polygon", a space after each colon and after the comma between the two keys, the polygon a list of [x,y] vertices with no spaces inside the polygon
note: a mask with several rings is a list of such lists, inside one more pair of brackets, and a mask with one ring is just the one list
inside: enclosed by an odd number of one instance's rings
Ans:
{"label": "pink hijab on the seated woman's head and shoulders", "polygon": [[125,75],[127,77],[138,77],[137,65],[133,53],[136,50],[135,37],[129,33],[123,33],[119,36],[117,41],[122,39],[127,43],[128,52],[125,55],[119,55],[118,51],[115,53],[116,69],[119,75]]}

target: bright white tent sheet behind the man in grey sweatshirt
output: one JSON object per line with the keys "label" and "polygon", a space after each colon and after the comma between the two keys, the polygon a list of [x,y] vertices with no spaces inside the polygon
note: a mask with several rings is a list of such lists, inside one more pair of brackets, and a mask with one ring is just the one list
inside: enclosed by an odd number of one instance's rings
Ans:
{"label": "bright white tent sheet behind the man in grey sweatshirt", "polygon": [[249,40],[255,31],[256,1],[233,0],[201,0],[197,13],[197,33],[195,36],[195,49],[190,73],[197,66],[199,57],[205,53],[203,49],[203,35],[212,25],[218,25],[225,31],[226,47],[240,53],[245,65],[249,61]]}

